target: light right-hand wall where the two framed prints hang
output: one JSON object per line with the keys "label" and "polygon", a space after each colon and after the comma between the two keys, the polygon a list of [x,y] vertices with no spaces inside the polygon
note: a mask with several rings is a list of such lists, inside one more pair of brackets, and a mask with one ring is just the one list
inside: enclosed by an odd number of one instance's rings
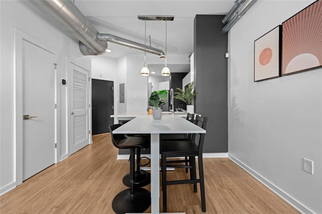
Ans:
{"label": "light right-hand wall where the two framed prints hang", "polygon": [[254,82],[254,41],[312,2],[258,1],[229,31],[228,151],[303,212],[322,213],[322,69]]}

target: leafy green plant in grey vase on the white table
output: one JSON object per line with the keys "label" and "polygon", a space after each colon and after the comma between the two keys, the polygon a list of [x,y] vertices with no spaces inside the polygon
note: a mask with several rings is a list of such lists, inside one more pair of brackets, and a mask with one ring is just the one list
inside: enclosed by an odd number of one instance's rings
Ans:
{"label": "leafy green plant in grey vase on the white table", "polygon": [[162,118],[162,110],[161,106],[166,104],[165,99],[168,97],[167,90],[158,90],[153,91],[149,97],[149,105],[154,108],[153,110],[153,118],[159,120]]}

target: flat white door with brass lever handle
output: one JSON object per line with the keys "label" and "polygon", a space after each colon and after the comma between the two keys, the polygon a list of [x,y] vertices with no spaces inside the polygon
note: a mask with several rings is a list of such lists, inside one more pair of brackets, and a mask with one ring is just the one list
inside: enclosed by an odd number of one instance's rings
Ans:
{"label": "flat white door with brass lever handle", "polygon": [[55,163],[55,55],[23,40],[23,180]]}

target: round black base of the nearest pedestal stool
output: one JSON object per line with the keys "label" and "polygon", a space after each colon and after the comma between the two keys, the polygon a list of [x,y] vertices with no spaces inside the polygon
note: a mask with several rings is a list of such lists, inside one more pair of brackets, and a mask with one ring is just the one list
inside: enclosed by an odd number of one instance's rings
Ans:
{"label": "round black base of the nearest pedestal stool", "polygon": [[136,188],[131,195],[131,189],[118,193],[112,202],[112,208],[117,214],[143,212],[151,205],[151,193],[143,188]]}

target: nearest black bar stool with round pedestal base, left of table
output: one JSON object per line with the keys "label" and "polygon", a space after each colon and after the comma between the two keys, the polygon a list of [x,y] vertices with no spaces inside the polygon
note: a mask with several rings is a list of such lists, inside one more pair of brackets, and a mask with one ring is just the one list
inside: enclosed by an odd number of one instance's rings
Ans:
{"label": "nearest black bar stool with round pedestal base, left of table", "polygon": [[113,145],[118,149],[130,149],[130,188],[118,193],[112,202],[113,210],[118,214],[127,212],[143,212],[151,204],[151,193],[143,188],[136,187],[134,183],[135,173],[135,149],[146,149],[150,145],[150,139],[144,136],[127,137],[125,134],[113,134],[113,131],[122,126],[115,124],[109,126]]}

